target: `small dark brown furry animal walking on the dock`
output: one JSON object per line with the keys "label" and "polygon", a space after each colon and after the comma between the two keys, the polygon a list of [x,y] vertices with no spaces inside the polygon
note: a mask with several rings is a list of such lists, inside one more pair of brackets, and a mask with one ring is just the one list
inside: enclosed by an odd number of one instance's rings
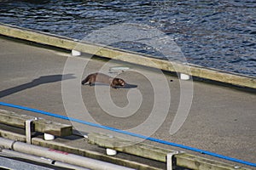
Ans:
{"label": "small dark brown furry animal walking on the dock", "polygon": [[117,86],[124,87],[126,84],[126,82],[121,78],[109,77],[108,75],[98,72],[85,77],[82,84],[84,85],[86,82],[89,82],[89,86],[91,86],[92,83],[101,82],[104,84],[109,84],[111,88],[116,88]]}

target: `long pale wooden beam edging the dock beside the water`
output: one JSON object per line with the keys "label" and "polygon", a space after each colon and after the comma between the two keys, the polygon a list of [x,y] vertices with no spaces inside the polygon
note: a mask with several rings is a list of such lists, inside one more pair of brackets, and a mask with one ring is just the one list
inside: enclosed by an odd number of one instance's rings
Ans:
{"label": "long pale wooden beam edging the dock beside the water", "polygon": [[219,71],[217,69],[206,68],[199,65],[183,65],[169,60],[155,59],[145,54],[137,54],[99,44],[91,44],[89,42],[78,42],[71,38],[55,36],[41,31],[32,31],[18,26],[9,26],[0,23],[0,34],[27,41],[43,43],[58,48],[75,49],[91,55],[95,54],[108,59],[118,59],[137,65],[158,68],[164,71],[184,73],[193,77],[201,77],[213,81],[230,83],[246,88],[256,88],[256,77],[248,77],[227,71]]}

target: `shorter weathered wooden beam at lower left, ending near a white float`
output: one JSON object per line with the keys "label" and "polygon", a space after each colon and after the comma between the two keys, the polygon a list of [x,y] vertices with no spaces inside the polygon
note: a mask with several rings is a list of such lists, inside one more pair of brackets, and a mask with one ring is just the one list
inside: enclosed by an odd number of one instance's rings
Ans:
{"label": "shorter weathered wooden beam at lower left, ending near a white float", "polygon": [[[14,127],[25,128],[26,120],[34,118],[33,116],[16,114],[12,111],[0,110],[0,123]],[[56,136],[69,136],[73,133],[73,127],[71,125],[47,121],[43,118],[39,118],[33,122],[32,127],[36,132],[49,133]]]}

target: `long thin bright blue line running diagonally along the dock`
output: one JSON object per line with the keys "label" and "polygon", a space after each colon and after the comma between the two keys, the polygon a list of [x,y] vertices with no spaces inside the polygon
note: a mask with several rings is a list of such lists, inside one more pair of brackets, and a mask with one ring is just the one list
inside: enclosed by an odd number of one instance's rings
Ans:
{"label": "long thin bright blue line running diagonally along the dock", "polygon": [[124,131],[124,130],[120,130],[118,128],[114,128],[114,127],[103,126],[103,125],[99,125],[99,124],[92,123],[92,122],[85,122],[85,121],[82,121],[82,120],[79,120],[79,119],[75,119],[73,117],[61,116],[61,115],[58,115],[58,114],[55,114],[55,113],[50,113],[50,112],[47,112],[47,111],[40,111],[40,110],[37,110],[37,109],[32,109],[32,108],[21,106],[21,105],[12,105],[12,104],[3,103],[3,102],[0,102],[0,105],[13,107],[13,108],[24,110],[24,111],[32,111],[32,112],[40,113],[40,114],[47,115],[47,116],[54,116],[54,117],[57,117],[57,118],[60,118],[60,119],[69,120],[69,121],[72,121],[72,122],[79,122],[79,123],[89,125],[89,126],[92,126],[92,127],[100,127],[100,128],[104,128],[104,129],[107,129],[107,130],[110,130],[110,131],[117,132],[117,133],[124,133],[124,134],[127,134],[127,135],[131,135],[133,137],[137,137],[137,138],[141,138],[141,139],[147,139],[147,140],[154,141],[154,142],[157,142],[157,143],[160,143],[160,144],[167,144],[167,145],[179,147],[179,148],[182,148],[182,149],[185,149],[185,150],[191,150],[191,151],[199,152],[201,154],[206,154],[208,156],[215,156],[215,157],[227,160],[227,161],[235,161],[235,162],[238,162],[238,163],[241,163],[241,164],[244,164],[244,165],[256,167],[256,163],[253,163],[253,162],[242,161],[242,160],[239,160],[239,159],[236,159],[236,158],[233,158],[233,157],[219,155],[219,154],[207,151],[207,150],[200,150],[200,149],[193,148],[193,147],[190,147],[190,146],[186,146],[186,145],[183,145],[183,144],[176,144],[176,143],[168,142],[168,141],[161,140],[161,139],[154,139],[154,138],[143,136],[143,135],[137,134],[137,133],[130,133],[130,132],[127,132],[127,131]]}

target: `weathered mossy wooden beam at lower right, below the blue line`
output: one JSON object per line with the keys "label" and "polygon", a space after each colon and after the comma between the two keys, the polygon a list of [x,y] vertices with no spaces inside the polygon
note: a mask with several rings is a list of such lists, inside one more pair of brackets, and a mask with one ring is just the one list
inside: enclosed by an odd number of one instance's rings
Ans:
{"label": "weathered mossy wooden beam at lower right, below the blue line", "polygon": [[[149,144],[134,143],[126,139],[116,138],[111,135],[102,133],[89,133],[88,140],[90,144],[96,144],[104,148],[118,150],[127,154],[142,156],[155,161],[166,162],[166,155],[174,150],[166,150],[160,147],[155,147]],[[213,161],[203,158],[201,156],[193,156],[190,154],[180,154],[174,156],[176,158],[176,164],[179,167],[187,167],[197,170],[234,170],[234,165],[226,164],[220,161]],[[248,168],[241,167],[241,170]]]}

